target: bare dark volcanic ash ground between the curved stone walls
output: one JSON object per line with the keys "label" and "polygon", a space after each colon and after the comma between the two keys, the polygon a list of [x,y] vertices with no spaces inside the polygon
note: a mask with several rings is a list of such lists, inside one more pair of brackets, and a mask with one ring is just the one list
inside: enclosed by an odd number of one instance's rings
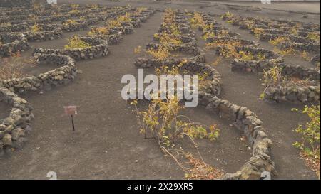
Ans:
{"label": "bare dark volcanic ash ground between the curved stone walls", "polygon": [[[71,1],[60,1],[69,3]],[[72,3],[89,4],[85,0]],[[210,1],[91,1],[92,4],[113,4],[133,6],[153,6],[156,9],[168,7],[208,11],[223,14],[231,11],[242,16],[264,16],[286,18],[297,21],[320,23],[320,3],[317,4],[242,4],[228,6]],[[236,3],[235,3],[236,4]],[[244,5],[246,7],[244,7]],[[263,7],[254,11],[248,6]],[[280,9],[282,11],[277,11]],[[245,11],[246,10],[246,11]],[[290,11],[290,12],[289,12]],[[295,12],[296,11],[296,12]],[[309,12],[308,18],[302,13]],[[317,14],[318,13],[318,14]],[[133,50],[138,45],[146,45],[161,25],[163,13],[158,12],[137,28],[136,33],[124,36],[119,45],[111,45],[111,54],[105,58],[77,62],[82,74],[68,86],[57,87],[43,95],[29,95],[26,99],[34,107],[33,131],[29,143],[21,151],[12,153],[0,160],[0,179],[46,179],[46,173],[56,171],[59,179],[181,179],[183,171],[169,157],[164,157],[153,140],[144,140],[136,126],[135,114],[131,107],[121,99],[121,77],[137,74],[133,65],[136,58]],[[218,21],[220,19],[218,18]],[[227,23],[231,31],[240,33],[243,38],[253,40],[246,31],[239,31]],[[86,34],[88,31],[78,32]],[[64,33],[63,38],[44,43],[31,43],[34,48],[62,48],[66,38],[74,33]],[[204,42],[199,39],[200,47]],[[261,43],[265,48],[269,45]],[[31,51],[24,53],[30,56]],[[213,60],[213,55],[207,55]],[[288,63],[298,63],[287,59]],[[303,63],[303,62],[302,62]],[[230,72],[229,62],[217,67],[223,77],[223,99],[242,104],[258,114],[274,142],[272,156],[277,170],[276,179],[315,179],[315,173],[305,167],[297,149],[292,143],[298,136],[293,129],[307,118],[291,112],[293,104],[267,104],[258,99],[263,90],[257,75],[242,75]],[[71,122],[63,116],[63,106],[76,104],[79,114],[75,118],[76,132],[71,131]],[[0,103],[0,117],[4,118],[9,108]],[[4,111],[2,111],[4,110]],[[203,108],[185,111],[191,119],[204,124],[216,123],[222,131],[220,140],[213,143],[200,142],[200,150],[207,163],[225,172],[237,171],[250,158],[250,150],[241,134],[218,117],[213,117]]]}

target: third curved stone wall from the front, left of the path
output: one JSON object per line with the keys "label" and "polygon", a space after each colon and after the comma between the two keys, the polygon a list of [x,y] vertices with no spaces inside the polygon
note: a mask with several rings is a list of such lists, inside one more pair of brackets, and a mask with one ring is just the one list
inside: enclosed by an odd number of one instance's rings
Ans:
{"label": "third curved stone wall from the front, left of the path", "polygon": [[91,47],[88,48],[75,48],[75,49],[44,49],[36,48],[34,55],[37,54],[56,54],[56,55],[68,55],[74,60],[86,60],[92,58],[98,58],[106,56],[109,53],[108,42],[100,38],[94,38],[91,36],[81,36],[82,41],[89,43]]}

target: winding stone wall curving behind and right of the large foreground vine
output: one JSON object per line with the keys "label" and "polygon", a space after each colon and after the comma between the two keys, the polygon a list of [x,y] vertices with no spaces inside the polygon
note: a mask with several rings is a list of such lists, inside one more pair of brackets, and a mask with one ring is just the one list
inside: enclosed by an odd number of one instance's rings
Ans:
{"label": "winding stone wall curving behind and right of the large foreground vine", "polygon": [[[176,13],[177,16],[182,16],[180,13]],[[148,48],[157,48],[159,45],[151,43],[147,45]],[[176,47],[185,50],[188,47],[180,45]],[[174,48],[174,46],[173,46]],[[178,49],[176,48],[176,49]],[[196,55],[200,54],[196,52],[198,49],[193,50],[191,53]],[[138,58],[136,60],[136,66],[141,68],[161,65],[178,65],[179,60],[166,60],[158,61],[155,59]],[[236,173],[227,173],[223,179],[260,179],[263,171],[272,172],[275,169],[275,164],[270,156],[270,149],[272,141],[267,138],[265,129],[263,128],[263,122],[246,107],[241,107],[236,104],[232,104],[227,100],[219,99],[221,90],[220,74],[210,65],[205,65],[198,60],[187,60],[183,63],[182,70],[188,70],[188,72],[205,72],[208,74],[208,79],[211,80],[211,84],[208,85],[203,91],[199,92],[200,104],[207,109],[217,112],[221,116],[228,116],[228,119],[233,121],[233,125],[244,132],[247,136],[251,146],[253,146],[253,156],[245,165],[240,168]]]}

